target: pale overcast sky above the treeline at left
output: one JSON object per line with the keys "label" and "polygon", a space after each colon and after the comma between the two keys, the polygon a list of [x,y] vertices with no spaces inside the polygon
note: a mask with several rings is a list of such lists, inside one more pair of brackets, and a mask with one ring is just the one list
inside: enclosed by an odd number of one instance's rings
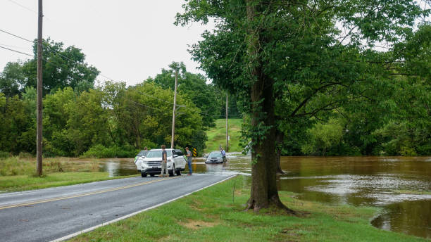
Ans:
{"label": "pale overcast sky above the treeline at left", "polygon": [[[213,26],[173,25],[182,0],[44,0],[43,37],[82,49],[87,63],[115,81],[128,85],[154,77],[172,61],[183,61],[189,72],[187,44],[201,39]],[[0,30],[35,39],[36,0],[0,0]],[[0,46],[32,53],[31,43],[0,32]],[[9,61],[30,58],[0,49],[0,71]],[[201,72],[202,73],[202,72]],[[98,79],[103,81],[104,77]]]}

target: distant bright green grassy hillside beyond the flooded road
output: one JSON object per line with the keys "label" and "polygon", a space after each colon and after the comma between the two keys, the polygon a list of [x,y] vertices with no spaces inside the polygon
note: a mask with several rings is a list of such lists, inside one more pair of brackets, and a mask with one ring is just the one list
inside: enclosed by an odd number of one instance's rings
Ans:
{"label": "distant bright green grassy hillside beyond the flooded road", "polygon": [[[241,124],[242,119],[229,119],[227,120],[228,134],[230,136],[229,152],[241,152],[242,147],[239,146],[239,139],[241,138]],[[225,148],[226,146],[226,120],[215,120],[215,127],[212,127],[206,132],[208,141],[206,141],[205,152],[218,151],[219,146]]]}

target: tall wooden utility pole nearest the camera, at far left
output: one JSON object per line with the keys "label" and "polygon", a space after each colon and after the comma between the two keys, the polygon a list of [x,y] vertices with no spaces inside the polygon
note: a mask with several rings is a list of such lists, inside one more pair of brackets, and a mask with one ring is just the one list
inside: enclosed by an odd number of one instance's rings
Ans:
{"label": "tall wooden utility pole nearest the camera, at far left", "polygon": [[37,18],[37,144],[36,158],[37,169],[36,173],[42,176],[42,0],[39,0],[39,14]]}

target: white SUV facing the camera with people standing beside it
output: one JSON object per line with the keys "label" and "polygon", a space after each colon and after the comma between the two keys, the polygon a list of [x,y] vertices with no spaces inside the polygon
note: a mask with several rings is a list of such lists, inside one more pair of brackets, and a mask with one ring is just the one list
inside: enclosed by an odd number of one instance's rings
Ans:
{"label": "white SUV facing the camera with people standing beside it", "polygon": [[[180,176],[181,172],[185,170],[186,160],[181,150],[166,148],[168,163],[169,176],[173,177],[175,173]],[[141,176],[146,177],[146,174],[150,174],[154,177],[155,174],[161,173],[161,148],[153,149],[146,153],[144,160],[141,165]]]}

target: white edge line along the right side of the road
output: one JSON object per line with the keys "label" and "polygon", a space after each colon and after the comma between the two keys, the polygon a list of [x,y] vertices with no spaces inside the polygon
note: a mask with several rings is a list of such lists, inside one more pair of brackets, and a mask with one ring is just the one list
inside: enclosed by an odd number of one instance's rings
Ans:
{"label": "white edge line along the right side of the road", "polygon": [[[210,184],[210,185],[208,185],[208,186],[204,186],[204,187],[202,187],[202,188],[200,188],[200,189],[197,189],[196,191],[201,191],[201,190],[207,189],[207,188],[208,188],[208,187],[210,187],[210,186],[214,186],[214,185],[216,185],[216,184],[219,184],[219,183],[221,183],[221,182],[223,182],[223,181],[227,181],[228,179],[231,179],[232,177],[236,177],[236,176],[237,176],[237,175],[232,175],[232,176],[227,177],[227,178],[225,178],[225,179],[223,179],[223,180],[221,180],[221,181],[217,181],[217,182],[215,182],[214,184]],[[106,226],[106,225],[108,225],[108,224],[112,224],[112,223],[118,222],[118,221],[120,221],[120,220],[127,219],[127,218],[129,218],[129,217],[135,216],[135,215],[137,215],[138,213],[145,212],[145,211],[147,211],[147,210],[151,210],[151,209],[154,209],[154,208],[158,208],[158,207],[160,207],[160,206],[162,206],[162,205],[165,205],[165,204],[167,204],[167,203],[173,202],[174,200],[178,200],[178,199],[180,199],[180,198],[184,198],[185,196],[189,196],[190,194],[195,193],[196,191],[192,191],[192,192],[189,192],[189,193],[184,194],[184,195],[182,195],[182,196],[179,196],[179,197],[177,197],[177,198],[173,198],[173,199],[167,200],[167,201],[165,201],[165,202],[163,202],[163,203],[160,203],[160,204],[157,204],[157,205],[153,205],[153,206],[151,206],[151,207],[149,207],[149,208],[144,208],[143,210],[139,210],[139,211],[137,211],[137,212],[132,212],[132,213],[131,213],[131,214],[129,214],[129,215],[125,215],[125,216],[123,216],[123,217],[118,217],[118,218],[113,219],[113,220],[111,220],[111,221],[108,221],[108,222],[104,222],[104,223],[98,224],[98,225],[96,225],[96,226],[94,226],[94,227],[89,227],[88,229],[83,229],[83,230],[81,230],[81,231],[77,231],[77,232],[75,232],[75,233],[73,233],[73,234],[69,234],[69,235],[63,236],[63,237],[61,237],[61,238],[56,238],[56,239],[54,239],[54,240],[53,240],[53,241],[51,241],[51,242],[60,242],[60,241],[65,241],[66,239],[73,238],[73,237],[75,237],[75,236],[78,236],[78,235],[80,235],[80,234],[87,233],[87,232],[92,231],[92,230],[94,230],[94,229],[98,229],[98,228],[100,228],[100,227],[104,227],[104,226]]]}

